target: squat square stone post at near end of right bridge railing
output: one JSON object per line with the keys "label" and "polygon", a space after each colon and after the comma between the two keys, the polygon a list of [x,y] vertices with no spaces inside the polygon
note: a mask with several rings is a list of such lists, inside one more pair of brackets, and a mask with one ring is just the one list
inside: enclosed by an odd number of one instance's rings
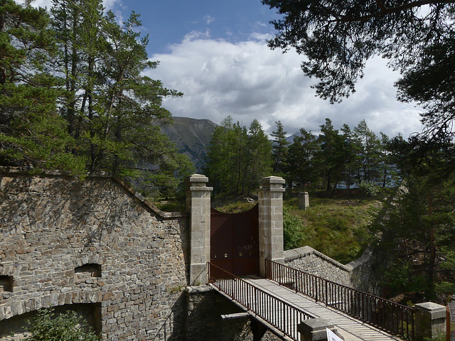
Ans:
{"label": "squat square stone post at near end of right bridge railing", "polygon": [[415,305],[415,336],[416,340],[424,337],[435,337],[446,332],[446,307],[437,303],[425,302]]}

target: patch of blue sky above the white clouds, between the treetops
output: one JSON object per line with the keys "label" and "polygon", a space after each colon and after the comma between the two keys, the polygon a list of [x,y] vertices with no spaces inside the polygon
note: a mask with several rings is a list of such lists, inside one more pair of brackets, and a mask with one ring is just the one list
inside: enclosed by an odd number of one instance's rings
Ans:
{"label": "patch of blue sky above the white clouds, between the treetops", "polygon": [[269,21],[277,17],[260,0],[130,0],[112,7],[122,16],[141,14],[150,54],[167,52],[168,45],[181,43],[191,32],[233,43],[248,40],[252,33],[272,33]]}

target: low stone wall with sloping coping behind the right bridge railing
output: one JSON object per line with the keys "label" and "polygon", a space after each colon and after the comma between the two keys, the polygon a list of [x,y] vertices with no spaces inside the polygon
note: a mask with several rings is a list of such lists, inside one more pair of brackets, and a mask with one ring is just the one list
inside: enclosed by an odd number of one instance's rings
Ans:
{"label": "low stone wall with sloping coping behind the right bridge railing", "polygon": [[308,246],[284,251],[284,264],[287,266],[363,291],[370,288],[372,261],[370,249],[346,265]]}

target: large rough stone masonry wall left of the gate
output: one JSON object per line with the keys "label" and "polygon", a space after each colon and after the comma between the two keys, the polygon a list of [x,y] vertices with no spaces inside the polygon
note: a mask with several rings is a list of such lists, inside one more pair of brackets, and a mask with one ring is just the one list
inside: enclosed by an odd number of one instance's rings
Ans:
{"label": "large rough stone masonry wall left of the gate", "polygon": [[10,319],[78,303],[100,306],[103,340],[183,340],[183,217],[112,178],[14,168],[0,168],[0,212],[1,341],[17,339]]}

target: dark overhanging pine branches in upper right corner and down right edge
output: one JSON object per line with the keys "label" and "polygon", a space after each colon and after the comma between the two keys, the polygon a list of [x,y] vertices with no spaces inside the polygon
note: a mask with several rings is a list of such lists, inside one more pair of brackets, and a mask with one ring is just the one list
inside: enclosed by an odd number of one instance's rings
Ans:
{"label": "dark overhanging pine branches in upper right corner and down right edge", "polygon": [[365,63],[374,56],[389,60],[402,74],[398,99],[415,101],[424,131],[412,138],[427,162],[448,151],[445,173],[455,164],[455,1],[437,0],[262,0],[282,18],[272,21],[271,48],[294,48],[305,56],[301,68],[316,77],[316,94],[332,103],[355,91]]}

